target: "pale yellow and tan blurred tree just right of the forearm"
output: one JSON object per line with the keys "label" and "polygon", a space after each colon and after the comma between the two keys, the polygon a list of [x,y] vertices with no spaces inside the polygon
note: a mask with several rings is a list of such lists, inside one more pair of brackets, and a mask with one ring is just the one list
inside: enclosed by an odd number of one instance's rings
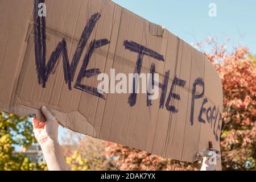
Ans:
{"label": "pale yellow and tan blurred tree just right of the forearm", "polygon": [[117,169],[108,163],[104,155],[105,142],[102,140],[69,131],[63,143],[66,162],[73,171]]}

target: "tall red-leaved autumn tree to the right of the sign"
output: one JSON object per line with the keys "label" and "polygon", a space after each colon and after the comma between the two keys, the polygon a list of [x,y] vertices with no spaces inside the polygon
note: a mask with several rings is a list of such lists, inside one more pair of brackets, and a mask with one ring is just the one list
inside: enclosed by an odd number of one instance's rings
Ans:
{"label": "tall red-leaved autumn tree to the right of the sign", "polygon": [[256,58],[246,47],[226,51],[217,46],[205,55],[221,76],[224,111],[221,131],[222,168],[255,170],[256,160]]}

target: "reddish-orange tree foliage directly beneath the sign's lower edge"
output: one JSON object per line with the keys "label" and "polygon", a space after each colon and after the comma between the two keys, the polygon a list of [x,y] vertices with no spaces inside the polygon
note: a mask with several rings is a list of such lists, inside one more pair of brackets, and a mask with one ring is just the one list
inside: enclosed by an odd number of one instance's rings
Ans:
{"label": "reddish-orange tree foliage directly beneath the sign's lower edge", "polygon": [[160,158],[157,155],[148,154],[134,148],[115,143],[107,143],[105,155],[109,156],[108,163],[119,170],[163,170],[184,171],[200,169],[200,162],[195,164],[180,162],[177,160]]}

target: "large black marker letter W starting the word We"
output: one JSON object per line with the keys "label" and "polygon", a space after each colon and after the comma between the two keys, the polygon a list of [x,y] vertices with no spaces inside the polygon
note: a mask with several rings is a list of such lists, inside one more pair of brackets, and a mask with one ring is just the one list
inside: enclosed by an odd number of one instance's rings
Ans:
{"label": "large black marker letter W starting the word We", "polygon": [[82,52],[84,51],[85,45],[88,42],[90,35],[100,19],[100,14],[93,14],[89,21],[86,23],[84,30],[82,31],[79,44],[76,48],[75,54],[71,64],[69,64],[67,44],[65,39],[57,44],[56,49],[51,53],[48,63],[46,65],[46,17],[38,16],[38,4],[44,3],[44,0],[34,0],[34,42],[35,42],[35,63],[36,71],[38,73],[38,82],[46,88],[46,82],[49,75],[54,73],[55,67],[57,66],[57,60],[59,59],[61,53],[63,55],[63,69],[64,69],[64,79],[65,83],[68,83],[68,88],[71,90],[71,82],[74,80],[75,72],[79,60],[81,58]]}

